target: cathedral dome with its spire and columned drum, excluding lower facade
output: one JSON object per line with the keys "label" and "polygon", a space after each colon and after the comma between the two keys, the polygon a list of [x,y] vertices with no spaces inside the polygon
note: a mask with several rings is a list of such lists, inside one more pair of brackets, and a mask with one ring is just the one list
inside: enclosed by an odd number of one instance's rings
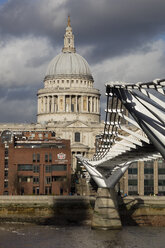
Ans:
{"label": "cathedral dome with its spire and columned drum, excluding lower facade", "polygon": [[38,91],[38,122],[55,122],[57,126],[60,123],[60,127],[78,120],[98,123],[100,93],[93,88],[93,83],[87,61],[76,53],[68,17],[62,51],[49,63],[44,89]]}

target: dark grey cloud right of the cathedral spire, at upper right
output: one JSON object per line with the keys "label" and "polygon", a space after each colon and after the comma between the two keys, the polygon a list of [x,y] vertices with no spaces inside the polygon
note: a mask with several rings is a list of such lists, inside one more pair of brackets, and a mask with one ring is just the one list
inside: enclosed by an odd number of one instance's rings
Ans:
{"label": "dark grey cloud right of the cathedral spire, at upper right", "polygon": [[88,4],[85,0],[79,5],[81,12],[77,12],[76,2],[69,1],[68,8],[72,9],[78,44],[94,44],[95,49],[87,57],[90,63],[132,52],[164,33],[164,1],[107,0],[100,7],[98,1]]}

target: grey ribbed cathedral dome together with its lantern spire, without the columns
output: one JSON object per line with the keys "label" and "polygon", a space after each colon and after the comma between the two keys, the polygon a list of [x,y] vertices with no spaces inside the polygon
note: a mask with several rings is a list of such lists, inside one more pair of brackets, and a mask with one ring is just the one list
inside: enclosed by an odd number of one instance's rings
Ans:
{"label": "grey ribbed cathedral dome together with its lantern spire, without the columns", "polygon": [[81,78],[93,81],[87,61],[76,53],[70,17],[68,17],[68,26],[64,35],[64,47],[62,52],[49,63],[45,81],[61,78]]}

